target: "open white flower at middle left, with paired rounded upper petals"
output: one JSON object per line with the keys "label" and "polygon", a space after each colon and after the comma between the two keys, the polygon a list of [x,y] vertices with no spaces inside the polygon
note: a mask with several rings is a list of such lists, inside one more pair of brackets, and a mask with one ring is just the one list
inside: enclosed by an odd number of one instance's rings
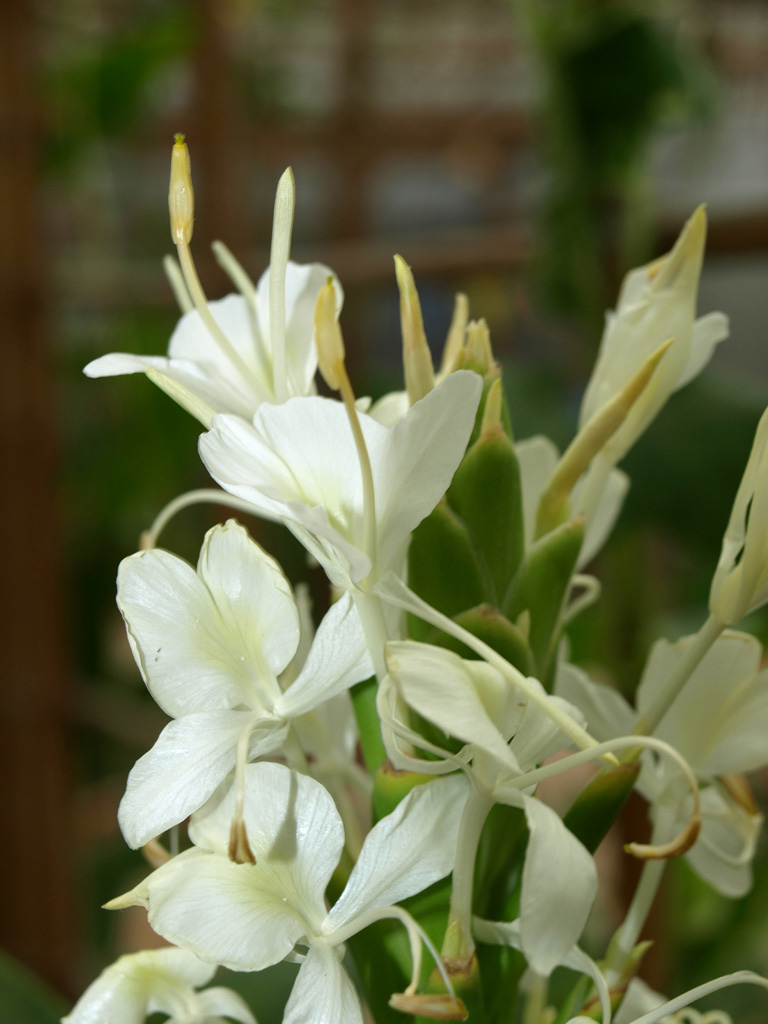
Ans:
{"label": "open white flower at middle left, with paired rounded upper petals", "polygon": [[373,671],[348,595],[321,623],[298,676],[289,669],[300,642],[290,585],[232,519],[206,535],[197,571],[157,549],[124,559],[118,604],[144,682],[174,719],[128,777],[119,820],[134,848]]}

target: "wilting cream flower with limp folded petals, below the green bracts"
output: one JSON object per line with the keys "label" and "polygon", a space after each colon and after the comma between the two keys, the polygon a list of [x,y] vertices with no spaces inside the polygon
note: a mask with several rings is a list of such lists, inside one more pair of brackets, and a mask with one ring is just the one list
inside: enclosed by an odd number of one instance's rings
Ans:
{"label": "wilting cream flower with limp folded petals, below the green bracts", "polygon": [[[466,801],[482,801],[488,810],[493,803],[509,804],[524,812],[529,839],[522,870],[520,942],[534,970],[549,975],[587,923],[597,874],[593,858],[560,817],[525,792],[525,774],[567,746],[569,739],[549,716],[484,662],[464,660],[452,651],[406,641],[387,645],[387,666],[389,676],[379,688],[378,706],[394,767],[433,774],[461,767],[467,776]],[[404,725],[400,700],[466,745],[452,755],[423,739]],[[581,720],[581,714],[566,701],[552,700]],[[397,744],[398,737],[441,760],[413,757]],[[479,828],[483,820],[484,815]],[[462,858],[460,848],[457,863]],[[470,859],[473,863],[473,856]],[[468,876],[468,892],[457,895],[464,874]],[[457,867],[457,904],[471,903],[471,876],[472,864],[461,874]],[[456,909],[468,918],[468,905]],[[462,924],[468,926],[469,922]]]}

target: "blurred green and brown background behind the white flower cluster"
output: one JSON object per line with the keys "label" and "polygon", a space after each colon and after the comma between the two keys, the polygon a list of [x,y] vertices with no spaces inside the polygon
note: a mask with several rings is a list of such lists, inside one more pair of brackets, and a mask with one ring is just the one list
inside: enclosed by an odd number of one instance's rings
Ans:
{"label": "blurred green and brown background behind the white flower cluster", "polygon": [[[732,337],[627,460],[626,514],[596,569],[608,599],[573,637],[583,664],[606,666],[631,692],[650,640],[700,622],[768,399],[768,8],[52,0],[3,10],[0,947],[14,959],[0,961],[0,1019],[44,1024],[119,952],[153,941],[139,911],[98,909],[144,870],[115,814],[127,770],[162,726],[114,579],[159,509],[206,474],[197,424],[165,395],[142,378],[87,381],[81,369],[167,345],[173,132],[189,143],[194,251],[210,297],[227,290],[212,240],[254,278],[266,265],[273,189],[290,163],[293,254],[343,283],[358,392],[399,386],[400,252],[435,351],[463,290],[489,323],[516,436],[546,431],[561,444],[623,273],[708,203],[700,311],[727,312]],[[217,517],[189,510],[164,541],[194,559]],[[276,527],[249,525],[292,579],[306,575]],[[754,628],[766,636],[764,620]],[[766,780],[756,788],[765,806]],[[645,827],[639,802],[623,827],[632,838]],[[621,839],[603,857],[597,949],[632,892]],[[740,903],[675,865],[645,976],[676,992],[741,967],[768,973],[766,906],[765,843]],[[279,1019],[268,1008],[290,971],[243,982],[262,1024]],[[758,1001],[737,990],[717,1000],[744,1024],[765,1019]]]}

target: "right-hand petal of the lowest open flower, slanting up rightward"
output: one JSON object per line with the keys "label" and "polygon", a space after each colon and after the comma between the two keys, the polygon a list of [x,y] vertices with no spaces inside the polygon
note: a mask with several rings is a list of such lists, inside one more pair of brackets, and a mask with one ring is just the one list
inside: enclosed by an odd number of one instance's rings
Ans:
{"label": "right-hand petal of the lowest open flower, slanting up rightward", "polygon": [[454,866],[467,793],[462,775],[435,779],[416,786],[374,825],[325,931],[367,910],[391,906],[444,878]]}

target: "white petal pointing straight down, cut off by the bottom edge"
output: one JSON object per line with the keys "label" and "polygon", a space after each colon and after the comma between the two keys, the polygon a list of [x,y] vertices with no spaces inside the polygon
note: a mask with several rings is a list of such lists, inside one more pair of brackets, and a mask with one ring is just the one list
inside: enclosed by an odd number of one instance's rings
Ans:
{"label": "white petal pointing straight down, cut off by the bottom edge", "polygon": [[283,1014],[283,1024],[362,1024],[354,986],[334,950],[309,947]]}

